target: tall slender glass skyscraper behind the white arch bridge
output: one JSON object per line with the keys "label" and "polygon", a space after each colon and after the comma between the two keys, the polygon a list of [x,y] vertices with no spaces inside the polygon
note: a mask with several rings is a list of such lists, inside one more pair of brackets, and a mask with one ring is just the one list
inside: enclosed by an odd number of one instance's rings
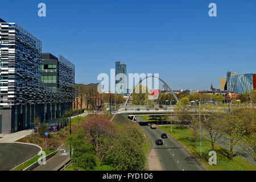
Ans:
{"label": "tall slender glass skyscraper behind the white arch bridge", "polygon": [[[123,61],[117,61],[115,62],[115,94],[123,94],[127,95],[127,78],[123,81],[123,86],[121,87],[121,93],[117,92],[117,84],[122,81],[122,77],[119,74],[124,74],[127,77],[126,72],[126,64],[123,63]],[[119,88],[118,88],[119,90]]]}

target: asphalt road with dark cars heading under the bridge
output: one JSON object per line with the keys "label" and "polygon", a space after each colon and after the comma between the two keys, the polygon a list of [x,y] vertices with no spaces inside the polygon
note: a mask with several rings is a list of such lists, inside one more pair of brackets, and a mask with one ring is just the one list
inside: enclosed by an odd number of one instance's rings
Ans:
{"label": "asphalt road with dark cars heading under the bridge", "polygon": [[142,130],[150,137],[153,148],[159,155],[160,163],[165,171],[201,171],[203,170],[199,164],[190,156],[183,147],[180,146],[174,139],[168,136],[163,139],[163,146],[156,146],[155,140],[161,139],[163,133],[159,129],[150,129],[147,122],[137,117],[137,122],[142,122]]}

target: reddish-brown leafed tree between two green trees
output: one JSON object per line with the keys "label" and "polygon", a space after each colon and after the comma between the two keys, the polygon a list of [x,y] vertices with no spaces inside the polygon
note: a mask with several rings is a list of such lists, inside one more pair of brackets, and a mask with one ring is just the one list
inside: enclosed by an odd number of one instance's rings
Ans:
{"label": "reddish-brown leafed tree between two green trees", "polygon": [[114,132],[114,124],[109,119],[101,115],[89,115],[86,122],[82,123],[86,136],[91,138],[97,158],[102,162],[104,156],[108,153],[108,138],[111,138]]}

